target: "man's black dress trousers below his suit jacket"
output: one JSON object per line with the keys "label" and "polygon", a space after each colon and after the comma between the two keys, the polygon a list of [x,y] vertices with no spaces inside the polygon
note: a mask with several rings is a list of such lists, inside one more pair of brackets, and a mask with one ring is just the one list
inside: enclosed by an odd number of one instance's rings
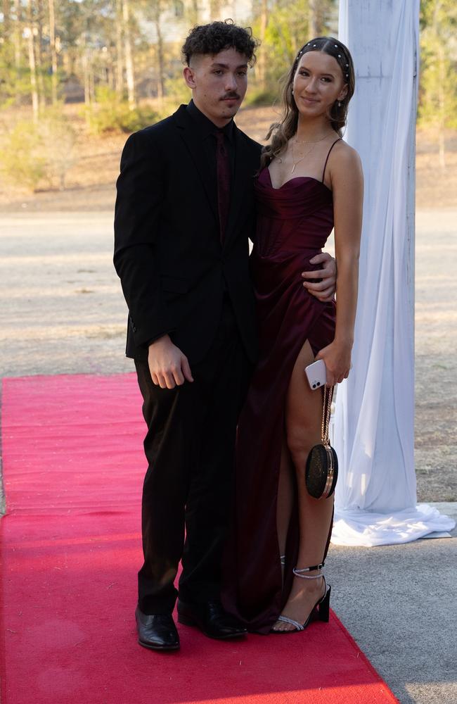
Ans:
{"label": "man's black dress trousers below his suit jacket", "polygon": [[193,382],[160,389],[153,384],[147,362],[135,360],[135,366],[148,426],[139,607],[146,614],[167,614],[178,593],[174,579],[179,560],[183,601],[204,603],[220,597],[236,423],[252,366],[228,301],[210,351],[191,365]]}

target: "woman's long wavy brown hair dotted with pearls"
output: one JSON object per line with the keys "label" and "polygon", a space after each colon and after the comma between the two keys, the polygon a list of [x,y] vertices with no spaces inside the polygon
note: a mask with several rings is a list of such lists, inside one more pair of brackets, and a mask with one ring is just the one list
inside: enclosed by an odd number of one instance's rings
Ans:
{"label": "woman's long wavy brown hair dotted with pearls", "polygon": [[[309,51],[324,51],[326,54],[333,56],[342,70],[343,79],[347,84],[347,95],[341,101],[335,101],[328,114],[328,119],[330,120],[330,125],[333,127],[333,130],[335,130],[340,137],[342,136],[342,127],[346,125],[347,107],[350,99],[354,95],[356,83],[354,63],[351,54],[349,54],[349,49],[338,41],[338,39],[334,37],[316,37],[316,39],[311,39],[310,42],[302,46],[302,49],[300,49],[297,56],[295,56],[294,63],[292,63],[292,67],[285,78],[282,94],[283,117],[281,122],[274,122],[273,125],[271,125],[266,135],[266,139],[270,139],[271,137],[271,142],[264,146],[262,151],[260,170],[283,151],[290,137],[293,137],[295,132],[297,132],[299,112],[292,94],[292,86],[300,59],[303,54],[308,54]],[[338,102],[340,102],[340,105],[338,105]]]}

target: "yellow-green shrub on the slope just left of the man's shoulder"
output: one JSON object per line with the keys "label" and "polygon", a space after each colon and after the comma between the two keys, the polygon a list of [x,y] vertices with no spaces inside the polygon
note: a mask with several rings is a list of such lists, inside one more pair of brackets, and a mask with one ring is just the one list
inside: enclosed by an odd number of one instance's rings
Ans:
{"label": "yellow-green shrub on the slope just left of the man's shoulder", "polygon": [[136,132],[157,122],[159,115],[149,106],[129,109],[129,103],[112,89],[96,88],[96,103],[83,108],[89,129],[94,134],[103,132]]}

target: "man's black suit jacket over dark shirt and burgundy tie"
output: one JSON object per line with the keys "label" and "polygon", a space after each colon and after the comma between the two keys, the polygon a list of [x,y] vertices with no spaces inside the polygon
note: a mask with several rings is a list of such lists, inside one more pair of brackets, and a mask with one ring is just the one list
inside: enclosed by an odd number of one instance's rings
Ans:
{"label": "man's black suit jacket over dark shirt and burgundy tie", "polygon": [[114,263],[129,308],[129,357],[146,359],[148,342],[168,332],[191,363],[202,360],[227,291],[247,355],[256,358],[248,238],[255,232],[253,180],[261,147],[233,127],[224,246],[214,182],[186,106],[127,139],[117,180]]}

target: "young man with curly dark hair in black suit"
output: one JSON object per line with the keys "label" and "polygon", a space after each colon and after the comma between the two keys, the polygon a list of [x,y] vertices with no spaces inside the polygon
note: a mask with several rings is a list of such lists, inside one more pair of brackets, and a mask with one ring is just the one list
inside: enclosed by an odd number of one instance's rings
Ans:
{"label": "young man with curly dark hair in black suit", "polygon": [[[183,47],[193,100],[129,137],[117,181],[114,261],[148,425],[136,623],[156,650],[179,648],[176,596],[179,622],[217,639],[245,633],[220,584],[236,422],[257,353],[248,238],[261,147],[233,122],[255,46],[230,22],[195,27]],[[333,293],[328,259],[314,285]]]}

